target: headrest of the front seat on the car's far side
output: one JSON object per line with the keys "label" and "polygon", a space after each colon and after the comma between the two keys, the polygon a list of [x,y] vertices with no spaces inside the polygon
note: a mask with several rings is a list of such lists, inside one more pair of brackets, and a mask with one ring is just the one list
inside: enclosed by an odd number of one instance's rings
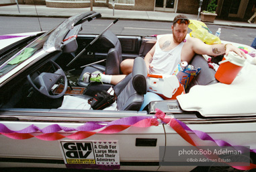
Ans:
{"label": "headrest of the front seat on the car's far side", "polygon": [[116,44],[118,44],[119,40],[113,32],[107,30],[99,37],[99,42],[105,48],[114,48]]}

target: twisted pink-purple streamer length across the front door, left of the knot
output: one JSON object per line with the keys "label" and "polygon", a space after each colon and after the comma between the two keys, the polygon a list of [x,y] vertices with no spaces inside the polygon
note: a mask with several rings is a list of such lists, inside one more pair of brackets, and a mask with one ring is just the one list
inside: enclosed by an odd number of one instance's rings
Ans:
{"label": "twisted pink-purple streamer length across the front door, left of the knot", "polygon": [[[114,134],[121,132],[122,130],[125,130],[126,128],[129,128],[130,126],[135,127],[149,127],[149,126],[157,126],[159,123],[157,121],[157,118],[153,118],[154,116],[132,116],[128,118],[121,118],[119,120],[114,120],[112,122],[109,122],[107,125],[101,125],[97,122],[87,122],[83,124],[82,126],[79,126],[77,128],[69,128],[65,126],[59,126],[58,124],[52,124],[50,126],[46,126],[45,128],[38,128],[37,126],[34,126],[33,124],[31,126],[28,126],[27,128],[24,128],[22,130],[13,131],[9,130],[4,124],[0,124],[0,134],[3,134],[4,136],[7,136],[9,138],[22,140],[22,139],[28,139],[32,137],[36,137],[40,140],[60,140],[62,138],[71,138],[73,140],[81,140],[84,138],[88,138],[89,136],[92,136],[93,134]],[[105,122],[101,122],[105,123]],[[99,132],[92,132],[93,130],[102,129]],[[77,131],[73,134],[70,134],[69,136],[63,136],[62,134],[59,134],[57,132],[59,131],[65,131],[65,132],[72,132]],[[34,132],[42,132],[43,134],[40,134],[38,136],[34,136],[32,133]]]}

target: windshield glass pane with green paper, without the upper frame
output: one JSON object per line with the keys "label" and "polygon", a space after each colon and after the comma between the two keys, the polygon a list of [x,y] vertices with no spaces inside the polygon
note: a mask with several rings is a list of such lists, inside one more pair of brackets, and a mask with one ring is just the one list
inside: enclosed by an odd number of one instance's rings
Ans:
{"label": "windshield glass pane with green paper, without the upper frame", "polygon": [[48,32],[40,36],[38,39],[34,40],[34,42],[30,44],[27,44],[26,42],[26,44],[14,48],[13,50],[11,50],[11,52],[5,54],[4,56],[1,56],[0,77],[3,77],[3,75],[17,67],[17,65],[21,64],[22,62],[24,62],[24,60],[27,60],[38,50],[40,50],[50,33],[51,32]]}

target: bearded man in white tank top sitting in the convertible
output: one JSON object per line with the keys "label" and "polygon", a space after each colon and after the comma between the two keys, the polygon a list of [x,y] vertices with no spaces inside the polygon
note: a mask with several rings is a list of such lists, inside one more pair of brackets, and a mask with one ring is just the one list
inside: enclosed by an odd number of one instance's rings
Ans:
{"label": "bearded man in white tank top sitting in the convertible", "polygon": [[[187,34],[189,19],[185,15],[177,15],[173,19],[171,30],[173,34],[157,36],[155,46],[146,54],[144,60],[148,69],[148,74],[163,75],[173,73],[177,64],[182,61],[191,61],[195,54],[208,54],[218,56],[234,51],[239,56],[245,56],[245,52],[232,44],[204,44],[198,38],[191,38]],[[134,59],[126,59],[121,63],[121,71],[124,75],[103,75],[99,71],[85,73],[84,82],[103,82],[116,85],[126,75],[132,72]]]}

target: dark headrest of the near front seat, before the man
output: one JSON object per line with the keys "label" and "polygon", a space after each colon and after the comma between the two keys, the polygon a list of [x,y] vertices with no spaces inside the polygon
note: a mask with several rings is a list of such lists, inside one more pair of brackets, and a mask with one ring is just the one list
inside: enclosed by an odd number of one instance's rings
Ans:
{"label": "dark headrest of the near front seat, before the man", "polygon": [[132,85],[139,94],[145,94],[147,91],[147,75],[148,73],[144,59],[140,56],[136,57],[132,69]]}

